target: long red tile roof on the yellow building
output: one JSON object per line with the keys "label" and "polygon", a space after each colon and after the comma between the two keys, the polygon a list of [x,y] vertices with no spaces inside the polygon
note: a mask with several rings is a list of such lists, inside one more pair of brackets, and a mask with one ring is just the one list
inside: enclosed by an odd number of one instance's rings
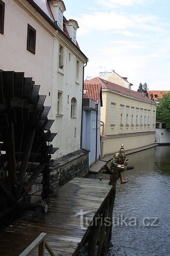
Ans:
{"label": "long red tile roof on the yellow building", "polygon": [[95,77],[91,80],[85,80],[85,83],[100,83],[102,85],[102,89],[108,89],[108,90],[112,90],[113,92],[116,93],[121,93],[122,95],[125,96],[129,96],[135,99],[139,99],[142,100],[144,102],[150,102],[150,103],[154,103],[154,101],[152,101],[151,99],[147,98],[147,96],[144,96],[142,93],[138,93],[136,91],[127,89],[123,86],[120,86],[118,84],[114,84],[112,82],[109,82],[107,80],[101,79],[99,77]]}

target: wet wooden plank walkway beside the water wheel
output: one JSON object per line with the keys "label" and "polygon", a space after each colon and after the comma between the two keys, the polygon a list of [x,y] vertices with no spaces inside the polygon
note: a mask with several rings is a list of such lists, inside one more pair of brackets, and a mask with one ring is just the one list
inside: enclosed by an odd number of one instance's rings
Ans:
{"label": "wet wooden plank walkway beside the water wheel", "polygon": [[[90,222],[111,191],[108,180],[71,180],[46,200],[48,214],[38,222],[26,215],[0,231],[0,256],[19,256],[42,232],[47,233],[46,241],[55,255],[77,255],[91,230]],[[30,255],[37,255],[37,251]]]}

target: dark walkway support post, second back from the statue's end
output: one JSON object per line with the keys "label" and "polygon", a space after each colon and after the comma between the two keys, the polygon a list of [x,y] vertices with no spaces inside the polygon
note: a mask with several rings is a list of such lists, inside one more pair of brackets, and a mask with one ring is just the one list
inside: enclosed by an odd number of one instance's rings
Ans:
{"label": "dark walkway support post, second back from the statue's end", "polygon": [[100,239],[99,239],[99,247],[98,247],[98,250],[97,250],[97,256],[101,255],[103,243],[105,241],[105,230],[106,230],[105,219],[108,217],[109,199],[106,200],[104,207],[105,207],[105,214],[104,214],[104,220],[102,221],[102,226],[101,226],[101,232],[100,232]]}

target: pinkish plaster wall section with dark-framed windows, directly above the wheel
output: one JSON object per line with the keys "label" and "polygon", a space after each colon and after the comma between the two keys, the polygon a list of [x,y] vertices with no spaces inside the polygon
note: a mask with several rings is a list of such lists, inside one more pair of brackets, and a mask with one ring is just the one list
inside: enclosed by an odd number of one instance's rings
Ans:
{"label": "pinkish plaster wall section with dark-framed windows, directly above the wheel", "polygon": [[[51,106],[53,36],[13,0],[5,2],[4,35],[0,34],[0,69],[25,72],[35,84],[40,84],[40,94],[47,95],[45,105]],[[31,8],[31,5],[29,5]],[[38,15],[37,15],[38,16]],[[36,53],[27,50],[28,23],[36,29]]]}

